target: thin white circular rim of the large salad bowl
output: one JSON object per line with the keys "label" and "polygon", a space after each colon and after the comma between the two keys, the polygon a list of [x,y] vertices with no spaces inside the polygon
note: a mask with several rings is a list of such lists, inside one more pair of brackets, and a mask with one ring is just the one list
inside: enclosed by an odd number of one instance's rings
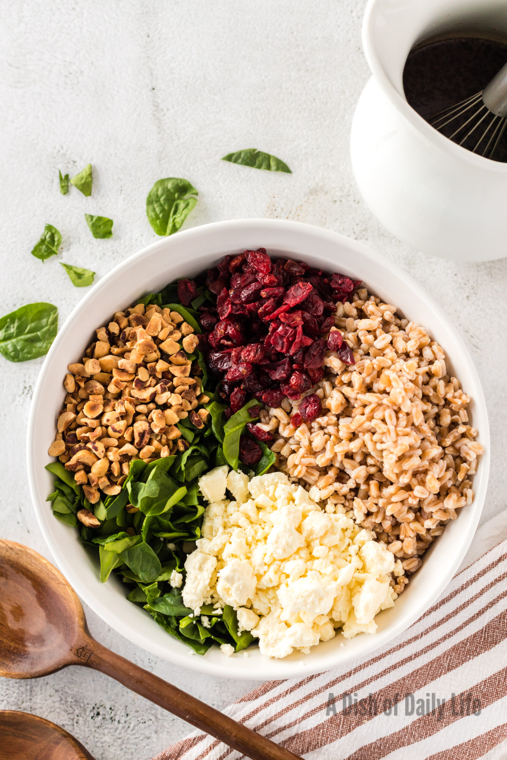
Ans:
{"label": "thin white circular rim of the large salad bowl", "polygon": [[[475,408],[479,410],[481,416],[480,440],[485,446],[485,452],[480,461],[480,477],[477,477],[476,475],[474,479],[474,485],[476,485],[477,488],[475,489],[474,503],[470,507],[472,514],[467,527],[467,532],[461,540],[461,546],[455,553],[452,562],[450,562],[445,569],[439,570],[439,581],[434,585],[433,592],[426,597],[426,602],[409,615],[405,614],[404,619],[401,619],[400,615],[398,622],[395,622],[393,625],[391,625],[387,631],[378,632],[375,635],[368,637],[364,635],[364,639],[363,637],[356,637],[356,639],[362,639],[360,642],[362,646],[360,647],[359,654],[358,651],[347,652],[346,646],[345,648],[339,649],[337,653],[335,652],[334,657],[330,656],[328,658],[325,658],[325,662],[322,661],[322,657],[319,657],[318,662],[312,663],[309,659],[311,657],[310,655],[306,661],[292,660],[290,663],[287,662],[287,660],[271,660],[271,658],[265,657],[262,658],[263,664],[261,667],[259,667],[259,663],[257,661],[255,662],[254,668],[252,667],[254,665],[252,661],[253,658],[251,658],[251,660],[243,660],[241,657],[241,660],[239,660],[239,657],[236,655],[236,657],[227,658],[229,662],[233,660],[233,667],[223,667],[223,662],[208,659],[206,655],[204,657],[185,657],[185,655],[182,656],[179,651],[173,651],[171,646],[165,648],[157,644],[157,642],[152,641],[149,635],[145,635],[143,632],[135,630],[133,625],[129,622],[125,622],[125,619],[122,617],[116,616],[115,613],[112,613],[106,607],[106,604],[102,603],[100,598],[97,597],[97,591],[93,588],[88,588],[84,581],[81,581],[78,569],[76,569],[72,562],[68,561],[68,559],[64,556],[63,549],[61,549],[59,546],[59,541],[56,540],[55,536],[52,534],[52,530],[50,528],[52,523],[49,521],[46,523],[44,515],[44,510],[47,511],[46,502],[42,499],[38,499],[36,483],[38,478],[43,477],[43,473],[40,473],[39,469],[36,467],[34,430],[37,423],[37,412],[39,410],[43,388],[46,382],[48,382],[48,378],[52,372],[52,356],[58,350],[59,345],[63,341],[67,340],[69,326],[81,312],[84,312],[87,309],[88,303],[97,296],[97,293],[100,293],[100,291],[106,290],[106,288],[109,287],[109,283],[115,280],[116,275],[125,268],[125,264],[133,264],[140,261],[144,257],[151,256],[156,252],[163,251],[164,249],[171,249],[174,246],[184,248],[185,242],[191,241],[192,239],[197,239],[201,236],[207,236],[208,233],[217,233],[222,231],[227,232],[227,230],[231,230],[236,233],[244,233],[246,239],[248,239],[249,235],[252,236],[252,233],[255,233],[255,235],[257,235],[259,232],[266,235],[271,232],[276,236],[276,230],[278,230],[279,233],[282,233],[285,230],[292,233],[303,233],[306,234],[306,236],[313,237],[315,239],[315,242],[318,242],[319,239],[321,241],[326,240],[329,243],[338,244],[342,247],[345,246],[351,254],[353,254],[353,252],[360,252],[363,257],[369,258],[372,262],[375,261],[375,264],[377,265],[379,264],[380,260],[381,266],[385,268],[389,274],[397,275],[402,283],[404,283],[411,290],[414,290],[417,295],[426,302],[426,305],[429,306],[430,309],[433,309],[433,312],[435,312],[436,316],[439,317],[443,322],[443,325],[445,326],[448,334],[452,337],[452,340],[455,341],[453,354],[458,355],[461,353],[461,356],[464,359],[467,359],[467,362],[470,365],[469,371],[471,373],[471,382],[474,385],[474,404]],[[241,246],[238,247],[240,248]],[[268,248],[270,247],[275,249],[276,244],[268,244]],[[224,249],[227,249],[227,245],[224,246]],[[300,255],[303,257],[305,254],[302,253]],[[120,300],[121,299],[118,299],[118,301]],[[30,496],[32,498],[33,508],[36,512],[37,521],[56,565],[58,565],[63,575],[65,575],[65,578],[68,579],[81,599],[84,600],[84,602],[87,603],[87,605],[90,606],[90,608],[93,610],[93,612],[97,613],[97,615],[100,616],[104,622],[110,625],[112,629],[116,630],[116,632],[119,632],[129,641],[137,644],[145,651],[162,657],[164,660],[169,660],[170,662],[179,666],[187,667],[189,670],[195,670],[211,676],[231,678],[271,680],[274,678],[292,678],[296,676],[309,676],[312,673],[321,673],[323,671],[330,670],[333,667],[341,667],[350,661],[357,659],[357,657],[369,655],[373,651],[385,647],[388,642],[392,641],[394,638],[404,632],[405,629],[407,629],[417,619],[419,619],[420,616],[426,612],[429,606],[431,606],[438,599],[438,597],[442,594],[442,591],[445,589],[445,586],[452,579],[452,576],[455,575],[455,572],[461,565],[461,562],[467,553],[467,549],[474,537],[474,533],[477,529],[477,524],[482,512],[483,502],[486,496],[489,465],[490,431],[486,411],[486,401],[482,387],[480,385],[477,369],[475,368],[471,356],[468,353],[467,347],[461,339],[461,336],[458,334],[458,331],[454,328],[452,322],[444,315],[442,310],[439,309],[439,306],[437,306],[436,302],[434,302],[433,299],[428,296],[423,287],[421,287],[403,270],[398,268],[396,264],[392,263],[382,255],[379,255],[377,252],[362,242],[350,239],[347,236],[341,235],[340,233],[336,233],[332,230],[325,230],[322,227],[289,220],[239,219],[214,222],[193,227],[190,230],[179,232],[177,236],[163,238],[162,240],[156,241],[151,245],[147,245],[140,251],[128,256],[122,262],[117,264],[117,266],[109,271],[108,274],[104,275],[104,277],[102,277],[96,285],[90,288],[89,292],[84,296],[83,299],[81,299],[80,302],[78,302],[78,304],[74,307],[74,309],[71,311],[71,314],[68,315],[68,318],[60,328],[59,333],[55,337],[55,340],[46,355],[43,366],[40,369],[40,374],[37,378],[32,402],[30,404],[30,415],[27,424],[28,482],[30,486]],[[52,519],[54,520],[54,518]],[[433,544],[433,547],[434,546],[435,544]],[[414,577],[417,578],[417,575]],[[176,640],[172,637],[168,638],[170,639],[170,642],[176,642]],[[356,641],[356,639],[353,639],[353,641]],[[170,642],[167,641],[167,644]],[[179,644],[179,642],[176,642],[176,644]],[[323,645],[325,646],[325,644],[319,644],[321,648]],[[312,651],[316,650],[318,650],[318,647],[312,648]],[[189,654],[189,648],[186,646],[185,654]],[[293,656],[291,656],[291,658],[292,657]],[[220,658],[221,660],[226,659],[221,655],[221,653]]]}

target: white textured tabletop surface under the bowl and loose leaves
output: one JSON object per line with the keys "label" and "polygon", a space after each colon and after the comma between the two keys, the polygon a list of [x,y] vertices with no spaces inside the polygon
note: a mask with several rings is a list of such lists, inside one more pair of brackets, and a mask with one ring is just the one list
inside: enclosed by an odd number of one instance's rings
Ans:
{"label": "white textured tabletop surface under the bowl and loose leaves", "polygon": [[[155,180],[188,178],[199,202],[187,225],[279,217],[368,242],[431,291],[471,350],[490,405],[493,467],[485,518],[504,506],[507,261],[426,258],[372,218],[350,173],[348,140],[368,78],[356,0],[70,0],[0,2],[0,252],[2,314],[47,300],[63,321],[83,295],[58,261],[106,273],[155,239],[144,202]],[[293,175],[220,162],[259,147]],[[93,164],[93,195],[59,194],[58,169]],[[95,240],[84,213],[115,222]],[[45,222],[62,254],[30,256]],[[246,241],[245,245],[249,245]],[[114,306],[114,293],[112,306]],[[38,534],[24,432],[42,359],[0,357],[3,518],[0,535],[49,556]],[[253,686],[198,676],[157,660],[87,610],[103,644],[222,708]],[[30,711],[74,733],[97,760],[149,758],[189,727],[105,676],[78,668],[0,682],[0,707]]]}

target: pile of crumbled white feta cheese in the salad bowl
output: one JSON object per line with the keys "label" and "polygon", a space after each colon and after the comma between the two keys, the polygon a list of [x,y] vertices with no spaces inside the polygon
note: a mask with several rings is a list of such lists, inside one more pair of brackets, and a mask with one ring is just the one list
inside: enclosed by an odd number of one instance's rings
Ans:
{"label": "pile of crumbled white feta cheese in the salad bowl", "polygon": [[184,603],[194,611],[211,603],[214,614],[233,606],[239,632],[252,632],[268,657],[306,654],[335,629],[344,638],[374,633],[375,615],[397,598],[389,584],[395,558],[385,545],[352,511],[323,510],[284,473],[249,480],[227,470],[215,467],[199,480],[209,505],[185,562]]}

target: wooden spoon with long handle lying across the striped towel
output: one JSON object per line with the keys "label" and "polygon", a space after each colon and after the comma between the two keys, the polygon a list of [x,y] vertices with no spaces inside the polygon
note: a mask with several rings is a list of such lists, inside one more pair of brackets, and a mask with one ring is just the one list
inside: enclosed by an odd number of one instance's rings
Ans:
{"label": "wooden spoon with long handle lying across the striped towel", "polygon": [[0,540],[0,675],[38,678],[68,665],[106,673],[253,760],[301,760],[103,647],[90,635],[81,602],[62,573],[33,549]]}

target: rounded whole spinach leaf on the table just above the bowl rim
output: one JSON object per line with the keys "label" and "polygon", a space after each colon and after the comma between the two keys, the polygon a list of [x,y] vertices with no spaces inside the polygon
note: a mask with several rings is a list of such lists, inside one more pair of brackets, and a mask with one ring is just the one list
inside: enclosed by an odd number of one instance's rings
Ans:
{"label": "rounded whole spinach leaf on the table just above the bowl rim", "polygon": [[188,179],[167,177],[155,182],[146,199],[148,221],[157,235],[178,232],[197,203],[197,190]]}

